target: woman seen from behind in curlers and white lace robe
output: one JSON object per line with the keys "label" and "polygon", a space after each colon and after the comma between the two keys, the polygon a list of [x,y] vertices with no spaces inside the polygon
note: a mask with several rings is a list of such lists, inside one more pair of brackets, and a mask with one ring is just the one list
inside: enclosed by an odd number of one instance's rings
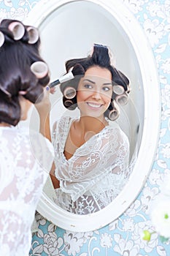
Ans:
{"label": "woman seen from behind in curlers and white lace robe", "polygon": [[43,98],[48,68],[39,56],[39,34],[18,20],[0,24],[0,252],[28,255],[31,225],[53,162],[42,135],[18,128]]}

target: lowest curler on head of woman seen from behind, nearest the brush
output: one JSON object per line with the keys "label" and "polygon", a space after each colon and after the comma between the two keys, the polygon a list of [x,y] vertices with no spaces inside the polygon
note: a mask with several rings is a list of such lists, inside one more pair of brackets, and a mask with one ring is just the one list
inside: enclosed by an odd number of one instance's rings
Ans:
{"label": "lowest curler on head of woman seen from behind, nearest the brush", "polygon": [[48,72],[47,64],[43,61],[35,61],[31,64],[31,72],[36,75],[36,78],[44,78]]}

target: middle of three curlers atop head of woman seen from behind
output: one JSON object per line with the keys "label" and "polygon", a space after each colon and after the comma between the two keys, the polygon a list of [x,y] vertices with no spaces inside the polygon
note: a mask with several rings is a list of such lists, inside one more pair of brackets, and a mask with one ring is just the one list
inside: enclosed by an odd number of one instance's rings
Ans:
{"label": "middle of three curlers atop head of woman seen from behind", "polygon": [[15,40],[20,40],[25,33],[25,28],[23,24],[18,21],[13,21],[12,23],[10,23],[8,29],[12,31]]}

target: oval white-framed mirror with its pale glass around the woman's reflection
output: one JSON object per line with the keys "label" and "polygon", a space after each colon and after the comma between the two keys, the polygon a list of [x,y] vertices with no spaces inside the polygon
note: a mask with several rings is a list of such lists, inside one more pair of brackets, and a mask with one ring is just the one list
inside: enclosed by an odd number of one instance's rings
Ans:
{"label": "oval white-framed mirror with its pale glass around the woman's reflection", "polygon": [[[123,214],[139,195],[152,167],[160,126],[159,84],[152,49],[138,21],[119,0],[40,1],[25,23],[39,27],[41,52],[49,64],[52,81],[63,75],[66,60],[87,56],[93,43],[107,45],[115,66],[131,81],[130,100],[117,122],[130,140],[134,165],[120,194],[101,211],[78,215],[58,207],[53,192],[48,194],[45,187],[37,207],[42,216],[63,229],[96,230]],[[51,101],[53,124],[56,116],[66,111],[59,89]],[[35,111],[31,118],[36,120]]]}

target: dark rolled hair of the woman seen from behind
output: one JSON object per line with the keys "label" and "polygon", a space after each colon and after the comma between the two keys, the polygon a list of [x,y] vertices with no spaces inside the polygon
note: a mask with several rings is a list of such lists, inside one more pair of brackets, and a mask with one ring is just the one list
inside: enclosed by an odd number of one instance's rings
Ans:
{"label": "dark rolled hair of the woman seen from behind", "polygon": [[[12,29],[13,24],[15,28]],[[33,39],[34,33],[36,39]],[[36,61],[45,64],[39,55],[40,39],[37,33],[36,28],[25,26],[18,20],[1,21],[0,123],[17,125],[20,121],[20,92],[23,97],[35,103],[42,99],[43,87],[49,83],[48,69],[42,78],[37,78],[31,69],[31,65]],[[47,64],[45,65],[47,67]]]}

